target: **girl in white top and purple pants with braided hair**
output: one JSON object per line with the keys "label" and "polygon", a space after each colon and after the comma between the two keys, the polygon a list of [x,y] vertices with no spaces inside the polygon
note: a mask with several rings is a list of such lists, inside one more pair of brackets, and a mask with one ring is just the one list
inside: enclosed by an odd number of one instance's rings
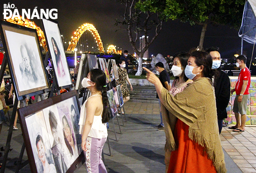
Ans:
{"label": "girl in white top and purple pants with braided hair", "polygon": [[82,86],[91,91],[91,96],[81,107],[80,134],[88,173],[107,173],[101,159],[107,140],[106,122],[110,119],[107,111],[106,75],[102,70],[93,69],[83,79]]}

